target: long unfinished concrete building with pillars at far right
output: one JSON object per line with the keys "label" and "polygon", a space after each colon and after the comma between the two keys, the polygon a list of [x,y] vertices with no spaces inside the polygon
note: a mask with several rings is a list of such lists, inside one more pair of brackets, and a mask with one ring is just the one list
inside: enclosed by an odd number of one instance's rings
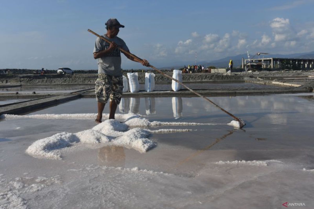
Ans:
{"label": "long unfinished concrete building with pillars at far right", "polygon": [[314,68],[314,58],[296,59],[296,58],[261,58],[246,59],[242,58],[242,68],[247,70],[261,70],[262,68],[276,69],[312,69]]}

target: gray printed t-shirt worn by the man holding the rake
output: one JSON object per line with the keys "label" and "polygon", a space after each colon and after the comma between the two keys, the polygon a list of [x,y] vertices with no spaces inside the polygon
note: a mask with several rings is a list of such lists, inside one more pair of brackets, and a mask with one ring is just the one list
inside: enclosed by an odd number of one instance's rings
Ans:
{"label": "gray printed t-shirt worn by the man holding the rake", "polygon": [[[121,49],[129,51],[125,42],[119,37],[116,36],[113,39],[108,38],[106,35],[103,35],[103,37],[109,41],[115,42]],[[109,45],[109,43],[97,37],[93,53],[106,50],[109,48]],[[122,76],[121,51],[118,48],[109,54],[98,58],[98,74],[102,73],[111,76]]]}

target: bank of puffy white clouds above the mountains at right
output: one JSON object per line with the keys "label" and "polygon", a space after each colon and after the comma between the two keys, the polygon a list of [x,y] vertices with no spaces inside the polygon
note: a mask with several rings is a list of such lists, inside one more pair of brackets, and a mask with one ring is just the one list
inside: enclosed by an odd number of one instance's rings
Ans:
{"label": "bank of puffy white clouds above the mountains at right", "polygon": [[[242,34],[238,30],[231,30],[229,33],[227,31],[222,36],[218,34],[199,36],[197,32],[193,32],[191,39],[179,41],[174,48],[174,53],[180,55],[177,56],[180,59],[191,60],[197,51],[199,59],[208,60],[208,57],[214,59],[243,53],[246,50],[289,53],[292,50],[299,52],[314,47],[314,24],[313,26],[298,25],[296,32],[293,29],[295,26],[290,25],[288,18],[277,17],[268,22],[268,27],[271,33],[261,32],[259,39]],[[306,39],[300,39],[301,36]]]}

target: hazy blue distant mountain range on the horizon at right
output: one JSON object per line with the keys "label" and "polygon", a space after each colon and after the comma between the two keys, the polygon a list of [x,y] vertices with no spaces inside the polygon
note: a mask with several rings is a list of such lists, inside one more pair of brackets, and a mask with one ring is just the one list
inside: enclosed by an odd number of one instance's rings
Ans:
{"label": "hazy blue distant mountain range on the horizon at right", "polygon": [[[254,54],[250,54],[250,58],[252,59],[254,56]],[[211,62],[198,62],[198,64],[204,65],[205,67],[208,66],[215,66],[215,67],[228,67],[229,65],[229,61],[232,60],[233,61],[233,67],[239,67],[242,65],[242,57],[244,59],[247,59],[247,54],[241,54],[241,55],[236,55],[236,56],[229,56],[229,57],[225,57],[219,60],[214,60]],[[260,58],[264,57],[264,58],[304,58],[304,59],[314,59],[314,51],[312,52],[305,52],[305,53],[297,53],[297,54],[289,54],[289,55],[281,55],[281,54],[269,54],[269,55],[260,55]],[[257,59],[258,56],[254,56],[253,59]],[[194,62],[190,62],[191,64]],[[189,64],[189,62],[187,62],[187,65]],[[186,65],[186,66],[187,66]],[[170,67],[161,67],[160,69],[180,69],[182,68],[184,65],[177,65],[177,66],[170,66]]]}

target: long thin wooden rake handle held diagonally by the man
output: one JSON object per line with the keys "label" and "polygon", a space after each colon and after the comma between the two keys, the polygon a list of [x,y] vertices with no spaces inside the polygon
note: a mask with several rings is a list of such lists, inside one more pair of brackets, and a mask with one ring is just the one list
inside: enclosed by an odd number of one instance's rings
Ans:
{"label": "long thin wooden rake handle held diagonally by the man", "polygon": [[[90,32],[90,33],[96,35],[96,36],[99,37],[100,39],[103,39],[104,41],[106,41],[106,42],[108,42],[109,44],[111,44],[111,41],[109,41],[108,39],[104,38],[103,36],[100,36],[100,35],[96,34],[94,31],[88,29],[88,32]],[[139,58],[139,57],[133,55],[132,53],[130,53],[130,52],[128,52],[128,51],[123,50],[123,49],[121,49],[120,47],[118,47],[118,49],[121,50],[122,52],[126,53],[127,55],[133,57],[135,60],[138,60],[138,61],[141,62],[141,63],[144,62],[141,58]],[[223,112],[227,113],[227,114],[230,115],[232,118],[234,118],[236,121],[239,121],[239,122],[240,122],[240,128],[242,128],[242,127],[245,125],[245,123],[243,122],[243,120],[241,120],[240,118],[234,116],[234,115],[231,114],[230,112],[227,112],[225,109],[219,107],[217,104],[215,104],[214,102],[212,102],[211,100],[209,100],[207,97],[204,97],[204,96],[201,95],[200,93],[198,93],[198,92],[194,91],[193,89],[187,87],[187,86],[186,86],[185,84],[183,84],[182,82],[180,82],[180,81],[174,79],[174,78],[171,77],[171,76],[168,76],[167,74],[165,74],[165,73],[163,73],[162,71],[158,70],[158,69],[157,69],[156,67],[154,67],[153,65],[150,65],[150,64],[149,64],[148,67],[153,68],[155,71],[157,71],[157,72],[161,73],[162,75],[164,75],[164,76],[166,76],[166,77],[168,77],[168,78],[170,78],[170,79],[176,81],[177,83],[179,83],[179,84],[181,84],[182,86],[186,87],[188,90],[190,90],[190,91],[193,92],[194,94],[196,94],[196,95],[202,97],[203,99],[205,99],[206,101],[212,103],[215,107],[217,107],[218,109],[220,109],[220,110],[222,110]],[[244,125],[241,125],[241,122],[243,122]]]}

